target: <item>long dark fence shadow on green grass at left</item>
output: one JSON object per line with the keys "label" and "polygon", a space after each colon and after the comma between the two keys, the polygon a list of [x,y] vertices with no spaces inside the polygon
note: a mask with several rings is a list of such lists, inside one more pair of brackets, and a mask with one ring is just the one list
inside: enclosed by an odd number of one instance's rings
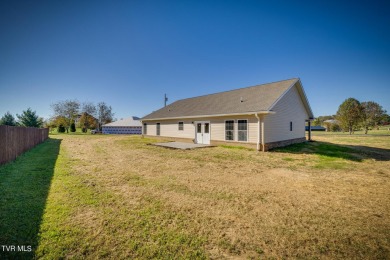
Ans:
{"label": "long dark fence shadow on green grass at left", "polygon": [[49,138],[0,166],[0,259],[34,258],[60,144]]}

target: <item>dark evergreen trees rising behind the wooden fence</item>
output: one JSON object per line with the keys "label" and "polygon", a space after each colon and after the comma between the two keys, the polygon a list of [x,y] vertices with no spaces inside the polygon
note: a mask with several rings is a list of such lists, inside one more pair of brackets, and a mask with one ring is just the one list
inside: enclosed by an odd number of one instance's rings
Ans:
{"label": "dark evergreen trees rising behind the wooden fence", "polygon": [[8,111],[0,118],[0,125],[24,126],[24,127],[43,127],[44,120],[39,117],[31,108],[24,110],[16,118]]}

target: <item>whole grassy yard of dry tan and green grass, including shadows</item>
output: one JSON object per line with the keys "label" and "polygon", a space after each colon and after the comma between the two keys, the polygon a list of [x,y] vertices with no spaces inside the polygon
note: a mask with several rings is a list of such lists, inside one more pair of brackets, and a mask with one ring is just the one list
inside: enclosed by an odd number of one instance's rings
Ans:
{"label": "whole grassy yard of dry tan and green grass, including shadows", "polygon": [[[267,153],[51,135],[0,167],[0,244],[20,258],[390,258],[390,137]],[[160,140],[159,140],[160,141]]]}

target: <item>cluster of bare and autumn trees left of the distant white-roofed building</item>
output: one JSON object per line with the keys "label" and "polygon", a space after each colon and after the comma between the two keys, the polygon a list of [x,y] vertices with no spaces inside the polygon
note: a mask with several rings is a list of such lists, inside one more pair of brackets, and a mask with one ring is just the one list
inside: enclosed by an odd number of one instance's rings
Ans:
{"label": "cluster of bare and autumn trees left of the distant white-roofed building", "polygon": [[57,128],[58,132],[75,132],[76,124],[83,132],[89,129],[98,129],[104,124],[113,121],[114,113],[111,106],[105,102],[96,105],[92,102],[77,100],[63,100],[51,105],[53,116],[48,122],[50,128]]}

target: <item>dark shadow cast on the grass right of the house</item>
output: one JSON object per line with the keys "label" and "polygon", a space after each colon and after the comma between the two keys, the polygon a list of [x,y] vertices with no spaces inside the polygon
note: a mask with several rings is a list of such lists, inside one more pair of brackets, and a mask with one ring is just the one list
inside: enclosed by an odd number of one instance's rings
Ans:
{"label": "dark shadow cast on the grass right of the house", "polygon": [[273,150],[274,152],[295,154],[317,154],[327,157],[361,162],[363,159],[390,161],[390,150],[358,145],[341,145],[329,142],[311,141],[293,144]]}

